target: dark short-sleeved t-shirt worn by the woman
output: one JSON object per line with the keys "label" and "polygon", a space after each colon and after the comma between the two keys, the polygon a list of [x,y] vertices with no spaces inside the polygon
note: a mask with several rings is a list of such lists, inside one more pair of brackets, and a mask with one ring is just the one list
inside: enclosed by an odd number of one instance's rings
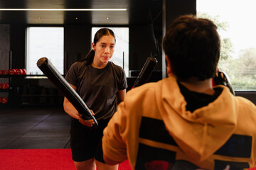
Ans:
{"label": "dark short-sleeved t-shirt worn by the woman", "polygon": [[112,117],[117,109],[117,91],[127,89],[124,69],[113,62],[108,62],[103,69],[75,62],[65,79],[77,87],[78,94],[97,120]]}

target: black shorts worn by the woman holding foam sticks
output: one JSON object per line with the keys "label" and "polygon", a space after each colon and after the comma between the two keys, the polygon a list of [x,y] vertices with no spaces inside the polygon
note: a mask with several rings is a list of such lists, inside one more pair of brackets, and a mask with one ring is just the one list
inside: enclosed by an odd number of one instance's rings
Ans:
{"label": "black shorts worn by the woman holding foam sticks", "polygon": [[92,130],[79,123],[78,120],[73,119],[70,130],[70,147],[73,161],[83,162],[95,157],[97,161],[105,163],[102,153],[102,136],[103,130],[109,121],[110,118],[97,120],[99,126]]}

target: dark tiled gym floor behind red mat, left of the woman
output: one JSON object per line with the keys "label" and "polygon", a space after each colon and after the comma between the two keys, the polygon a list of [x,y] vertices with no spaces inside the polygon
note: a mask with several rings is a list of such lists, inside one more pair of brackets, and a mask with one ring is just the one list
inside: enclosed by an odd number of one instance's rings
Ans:
{"label": "dark tiled gym floor behind red mat, left of the woman", "polygon": [[0,108],[0,149],[70,148],[63,108]]}

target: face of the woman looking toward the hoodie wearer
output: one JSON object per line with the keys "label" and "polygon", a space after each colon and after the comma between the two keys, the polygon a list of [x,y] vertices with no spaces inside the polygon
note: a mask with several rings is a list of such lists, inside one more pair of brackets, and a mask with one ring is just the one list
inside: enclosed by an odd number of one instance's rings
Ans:
{"label": "face of the woman looking toward the hoodie wearer", "polygon": [[95,51],[94,60],[98,63],[107,64],[114,53],[114,37],[112,35],[104,35],[100,40],[92,42],[92,50]]}

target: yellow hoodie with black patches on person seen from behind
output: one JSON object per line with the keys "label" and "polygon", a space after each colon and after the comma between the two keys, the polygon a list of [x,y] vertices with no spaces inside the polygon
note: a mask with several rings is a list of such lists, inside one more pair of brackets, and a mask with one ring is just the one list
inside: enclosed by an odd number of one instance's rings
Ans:
{"label": "yellow hoodie with black patches on person seen from behind", "polygon": [[174,77],[128,91],[104,130],[104,154],[132,169],[255,167],[256,107],[219,87],[192,113]]}

